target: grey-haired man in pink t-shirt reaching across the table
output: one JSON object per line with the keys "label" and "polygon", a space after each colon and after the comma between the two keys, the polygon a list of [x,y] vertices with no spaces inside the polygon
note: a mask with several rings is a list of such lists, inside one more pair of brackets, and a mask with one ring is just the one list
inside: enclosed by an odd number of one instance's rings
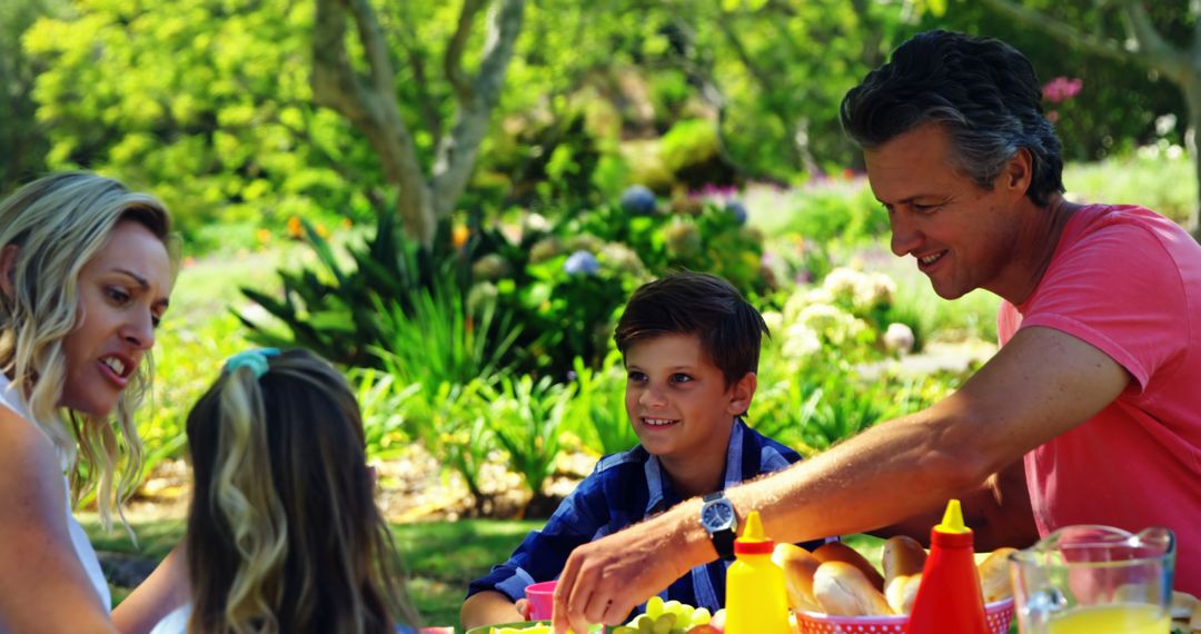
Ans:
{"label": "grey-haired man in pink t-shirt reaching across the table", "polygon": [[[1177,536],[1201,594],[1201,246],[1136,207],[1063,197],[1038,78],[1008,44],[920,34],[842,103],[892,251],[945,299],[999,295],[1002,348],[927,409],[725,491],[777,542],[909,527],[967,497],[978,550],[1070,524]],[[706,501],[706,508],[713,504]],[[555,632],[614,623],[713,560],[701,502],[574,551]]]}

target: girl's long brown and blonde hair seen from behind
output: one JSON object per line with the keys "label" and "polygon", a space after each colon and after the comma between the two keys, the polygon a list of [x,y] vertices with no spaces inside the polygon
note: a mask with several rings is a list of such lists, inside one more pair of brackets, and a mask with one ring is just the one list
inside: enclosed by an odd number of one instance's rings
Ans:
{"label": "girl's long brown and blonde hair seen from behind", "polygon": [[[250,358],[247,360],[247,357]],[[249,352],[187,415],[193,634],[392,634],[416,624],[346,379]]]}

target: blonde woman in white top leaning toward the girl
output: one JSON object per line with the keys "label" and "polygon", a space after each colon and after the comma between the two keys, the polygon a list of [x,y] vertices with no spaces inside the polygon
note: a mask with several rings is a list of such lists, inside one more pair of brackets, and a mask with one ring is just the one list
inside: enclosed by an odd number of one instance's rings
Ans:
{"label": "blonde woman in white top leaning toward the girl", "polygon": [[186,597],[172,554],[109,615],[71,515],[95,490],[107,524],[135,484],[171,246],[162,204],[112,179],[52,175],[0,202],[0,634],[147,632]]}

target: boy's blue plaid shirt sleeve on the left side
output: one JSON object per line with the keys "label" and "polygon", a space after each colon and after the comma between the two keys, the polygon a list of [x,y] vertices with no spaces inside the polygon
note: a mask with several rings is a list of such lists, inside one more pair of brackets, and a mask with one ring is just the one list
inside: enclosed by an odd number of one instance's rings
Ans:
{"label": "boy's blue plaid shirt sleeve on the left side", "polygon": [[467,597],[494,590],[515,602],[525,597],[525,587],[530,584],[556,579],[572,551],[592,540],[603,525],[603,519],[594,513],[605,508],[600,484],[599,472],[585,478],[540,531],[526,536],[508,561],[467,586]]}

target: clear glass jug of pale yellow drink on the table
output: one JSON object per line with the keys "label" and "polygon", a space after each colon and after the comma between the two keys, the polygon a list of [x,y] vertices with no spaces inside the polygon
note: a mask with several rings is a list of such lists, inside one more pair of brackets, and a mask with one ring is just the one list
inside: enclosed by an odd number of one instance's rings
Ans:
{"label": "clear glass jug of pale yellow drink on the table", "polygon": [[1176,538],[1066,526],[1010,555],[1022,634],[1167,634]]}

